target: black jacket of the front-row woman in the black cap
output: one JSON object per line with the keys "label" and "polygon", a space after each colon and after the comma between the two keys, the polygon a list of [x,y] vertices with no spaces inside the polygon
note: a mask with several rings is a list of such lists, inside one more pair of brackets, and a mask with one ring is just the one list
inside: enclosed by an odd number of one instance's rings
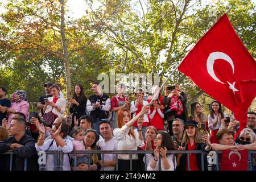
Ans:
{"label": "black jacket of the front-row woman in the black cap", "polygon": [[[185,146],[185,150],[188,150],[188,145],[183,145]],[[205,147],[207,147],[207,144],[205,143],[196,143],[196,150],[201,150],[204,152],[207,152],[205,150]],[[201,165],[201,154],[196,154],[196,161],[197,161],[197,166],[200,170],[202,170],[202,165]],[[187,164],[187,154],[183,154],[180,158],[180,165],[176,167],[176,171],[185,171]],[[208,171],[208,161],[207,161],[207,154],[204,154],[204,171]]]}

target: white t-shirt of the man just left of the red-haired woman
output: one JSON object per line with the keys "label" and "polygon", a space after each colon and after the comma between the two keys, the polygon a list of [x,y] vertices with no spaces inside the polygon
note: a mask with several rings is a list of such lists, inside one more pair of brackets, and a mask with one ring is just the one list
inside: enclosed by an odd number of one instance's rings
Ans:
{"label": "white t-shirt of the man just left of the red-haired woman", "polygon": [[[117,150],[117,139],[115,139],[115,137],[113,137],[112,139],[110,139],[108,142],[105,142],[104,139],[100,139],[98,140],[97,146],[99,146],[101,148],[101,150],[113,150],[116,151]],[[102,158],[101,154],[101,159]],[[113,160],[117,160],[116,158],[116,154],[104,154],[104,161],[113,161]],[[102,171],[102,167],[101,167],[101,171]],[[114,171],[115,167],[114,166],[106,166],[104,167],[104,171]]]}

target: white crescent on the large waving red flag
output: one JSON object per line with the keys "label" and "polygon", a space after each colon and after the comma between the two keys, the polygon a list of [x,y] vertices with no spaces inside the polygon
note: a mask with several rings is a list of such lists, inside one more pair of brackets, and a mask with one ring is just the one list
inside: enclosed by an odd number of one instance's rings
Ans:
{"label": "white crescent on the large waving red flag", "polygon": [[216,59],[223,59],[225,61],[228,61],[228,63],[231,65],[232,67],[232,71],[234,74],[234,63],[232,61],[232,59],[226,55],[223,52],[212,52],[210,53],[208,59],[207,59],[207,71],[209,73],[209,75],[216,81],[221,82],[222,84],[224,84],[224,82],[220,81],[220,79],[218,79],[218,77],[215,75],[214,71],[213,71],[213,65],[214,65],[214,61]]}

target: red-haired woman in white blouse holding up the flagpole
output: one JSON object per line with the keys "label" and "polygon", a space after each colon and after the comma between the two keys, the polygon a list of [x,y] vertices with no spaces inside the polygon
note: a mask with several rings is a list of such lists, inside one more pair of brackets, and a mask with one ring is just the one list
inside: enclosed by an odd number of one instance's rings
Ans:
{"label": "red-haired woman in white blouse holding up the flagpole", "polygon": [[[131,113],[128,109],[120,109],[117,113],[117,128],[114,129],[114,137],[117,139],[117,150],[138,150],[137,147],[143,147],[142,122],[144,114],[148,113],[149,106],[143,109],[131,119]],[[138,131],[133,130],[133,124],[138,120]],[[132,170],[140,171],[141,162],[138,154],[119,154],[118,171],[130,171],[130,156],[132,158]]]}

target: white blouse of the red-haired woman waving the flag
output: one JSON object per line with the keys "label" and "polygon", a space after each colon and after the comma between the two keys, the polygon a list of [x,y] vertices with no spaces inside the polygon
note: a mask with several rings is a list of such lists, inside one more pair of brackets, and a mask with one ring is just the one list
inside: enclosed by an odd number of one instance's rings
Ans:
{"label": "white blouse of the red-haired woman waving the flag", "polygon": [[[143,138],[139,139],[139,133],[137,129],[133,130],[135,138],[130,136],[128,133],[130,131],[130,127],[127,127],[127,124],[122,126],[121,129],[114,129],[114,137],[117,139],[117,150],[138,150],[138,147],[144,146]],[[130,154],[118,154],[118,159],[128,160],[130,159]],[[138,154],[133,154],[132,159],[139,159]]]}

